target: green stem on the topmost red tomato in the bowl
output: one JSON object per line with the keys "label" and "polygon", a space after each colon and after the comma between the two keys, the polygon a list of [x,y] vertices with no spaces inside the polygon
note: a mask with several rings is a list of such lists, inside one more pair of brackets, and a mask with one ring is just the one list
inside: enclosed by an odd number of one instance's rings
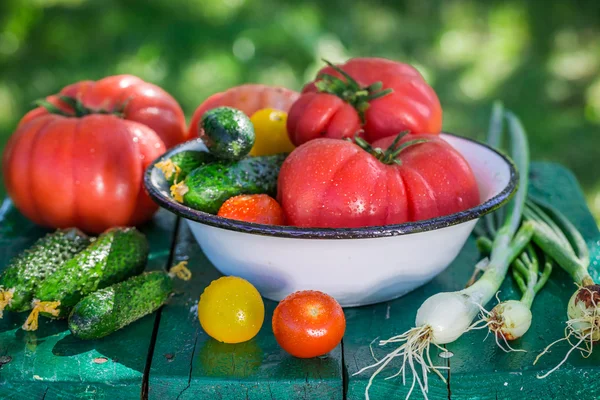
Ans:
{"label": "green stem on the topmost red tomato in the bowl", "polygon": [[317,90],[321,93],[333,94],[354,107],[362,124],[365,123],[365,112],[370,106],[369,102],[393,92],[391,88],[383,89],[382,82],[375,82],[369,86],[361,87],[346,71],[325,59],[323,61],[344,79],[328,73],[321,73],[317,77],[320,80],[315,83]]}

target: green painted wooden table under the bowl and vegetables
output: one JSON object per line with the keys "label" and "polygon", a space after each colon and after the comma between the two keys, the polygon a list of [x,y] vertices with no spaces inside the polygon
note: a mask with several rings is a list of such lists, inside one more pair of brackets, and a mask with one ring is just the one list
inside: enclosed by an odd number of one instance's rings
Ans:
{"label": "green painted wooden table under the bowl and vegetables", "polygon": [[[573,175],[556,164],[534,164],[531,191],[563,211],[582,231],[591,249],[593,276],[600,271],[600,233]],[[202,290],[219,273],[191,236],[187,224],[161,211],[143,227],[152,252],[148,269],[188,260],[194,274],[178,282],[177,293],[158,313],[97,341],[74,339],[64,321],[42,320],[37,332],[20,329],[26,315],[5,313],[0,320],[0,399],[362,399],[369,374],[354,376],[373,362],[369,344],[404,332],[428,296],[461,288],[478,260],[470,239],[454,263],[430,284],[395,301],[346,309],[343,343],[327,357],[300,360],[282,351],[272,334],[275,303],[266,301],[258,336],[237,345],[221,344],[203,332],[196,316]],[[46,233],[5,200],[0,208],[0,270],[8,260]],[[343,279],[343,277],[340,277]],[[448,383],[430,379],[431,399],[570,399],[600,397],[600,354],[573,354],[555,374],[540,380],[566,346],[557,346],[538,365],[545,344],[563,335],[566,303],[573,283],[561,270],[533,306],[531,330],[515,346],[527,353],[506,354],[485,332],[472,332],[448,346]],[[507,280],[501,297],[516,297]],[[383,355],[391,347],[376,348]],[[376,379],[372,399],[403,398],[399,379]],[[413,398],[421,398],[415,392]]]}

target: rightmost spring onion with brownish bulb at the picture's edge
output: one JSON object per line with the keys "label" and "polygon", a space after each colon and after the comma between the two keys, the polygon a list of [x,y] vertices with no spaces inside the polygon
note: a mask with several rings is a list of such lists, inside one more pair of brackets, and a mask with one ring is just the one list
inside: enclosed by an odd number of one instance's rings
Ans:
{"label": "rightmost spring onion with brownish bulb at the picture's edge", "polygon": [[[536,204],[538,203],[538,204]],[[575,281],[577,290],[568,307],[565,337],[548,345],[535,359],[535,363],[555,344],[567,341],[571,348],[558,365],[538,378],[545,378],[564,364],[571,353],[579,350],[589,357],[594,341],[600,339],[600,285],[588,273],[589,250],[579,231],[558,210],[547,204],[530,202],[524,213],[535,224],[533,241]]]}

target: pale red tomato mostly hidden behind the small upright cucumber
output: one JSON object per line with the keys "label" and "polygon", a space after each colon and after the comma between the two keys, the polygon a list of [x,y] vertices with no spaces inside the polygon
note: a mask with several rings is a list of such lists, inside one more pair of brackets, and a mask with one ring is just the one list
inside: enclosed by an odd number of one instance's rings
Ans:
{"label": "pale red tomato mostly hidden behind the small upright cucumber", "polygon": [[260,84],[236,86],[224,92],[216,93],[206,99],[192,116],[190,137],[198,137],[198,123],[205,112],[216,107],[233,107],[251,117],[258,110],[273,108],[287,112],[300,93],[282,88]]}

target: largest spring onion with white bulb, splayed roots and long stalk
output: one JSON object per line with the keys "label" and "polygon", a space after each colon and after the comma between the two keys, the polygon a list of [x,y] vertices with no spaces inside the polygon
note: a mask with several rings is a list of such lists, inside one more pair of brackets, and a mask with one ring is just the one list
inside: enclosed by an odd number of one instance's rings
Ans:
{"label": "largest spring onion with white bulb, splayed roots and long stalk", "polygon": [[367,400],[375,377],[397,357],[402,360],[401,367],[386,379],[401,375],[403,384],[406,384],[406,372],[410,370],[412,384],[407,398],[412,394],[415,385],[418,385],[427,399],[428,373],[433,372],[445,381],[440,370],[446,368],[432,363],[430,346],[446,351],[443,347],[445,344],[454,342],[471,329],[475,317],[500,288],[509,265],[519,257],[531,240],[534,224],[521,224],[529,174],[527,138],[518,119],[512,113],[503,112],[503,116],[509,122],[511,155],[519,170],[519,188],[509,203],[504,221],[495,235],[489,264],[473,285],[456,292],[438,293],[425,300],[417,311],[414,328],[379,342],[381,346],[397,343],[399,347],[374,364],[356,372],[361,374],[374,369],[365,389]]}

